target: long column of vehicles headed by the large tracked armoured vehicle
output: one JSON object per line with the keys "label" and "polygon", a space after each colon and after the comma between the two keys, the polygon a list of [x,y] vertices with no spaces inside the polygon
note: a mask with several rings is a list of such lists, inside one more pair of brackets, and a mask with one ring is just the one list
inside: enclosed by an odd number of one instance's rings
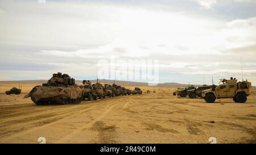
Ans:
{"label": "long column of vehicles headed by the large tracked armoured vehicle", "polygon": [[68,74],[53,74],[47,83],[35,86],[24,98],[31,98],[37,105],[43,104],[77,104],[82,100],[97,100],[106,97],[112,98],[119,95],[142,94],[139,87],[132,91],[125,87],[101,83],[92,84],[89,80],[82,81],[83,85],[77,85],[75,79]]}

